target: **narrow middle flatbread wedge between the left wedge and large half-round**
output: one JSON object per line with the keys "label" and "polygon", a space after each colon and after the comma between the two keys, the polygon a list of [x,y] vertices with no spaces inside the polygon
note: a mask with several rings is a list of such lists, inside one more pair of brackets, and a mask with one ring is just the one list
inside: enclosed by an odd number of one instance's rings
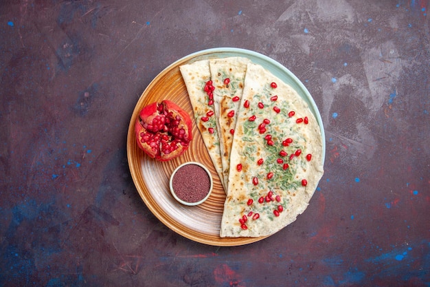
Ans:
{"label": "narrow middle flatbread wedge between the left wedge and large half-round", "polygon": [[215,87],[214,109],[218,120],[217,129],[225,187],[228,184],[231,144],[248,63],[251,61],[244,57],[227,57],[209,61],[211,79]]}

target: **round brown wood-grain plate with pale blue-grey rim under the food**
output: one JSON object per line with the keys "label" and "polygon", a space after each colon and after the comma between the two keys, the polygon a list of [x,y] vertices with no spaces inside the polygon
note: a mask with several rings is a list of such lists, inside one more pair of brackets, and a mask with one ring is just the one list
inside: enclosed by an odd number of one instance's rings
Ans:
{"label": "round brown wood-grain plate with pale blue-grey rim under the food", "polygon": [[[166,67],[166,69],[158,74],[148,87],[146,87],[142,96],[137,101],[133,115],[131,116],[127,136],[128,166],[130,167],[133,182],[142,200],[144,200],[148,209],[150,209],[163,224],[166,224],[172,231],[190,240],[214,246],[239,246],[257,242],[265,238],[231,238],[219,236],[225,192],[214,165],[212,164],[209,153],[207,153],[200,131],[197,129],[187,89],[183,82],[181,72],[179,71],[179,66],[186,63],[210,58],[224,58],[227,56],[247,57],[254,63],[267,68],[267,70],[281,78],[288,85],[291,85],[298,94],[306,100],[313,114],[315,114],[321,129],[323,151],[325,151],[324,128],[313,98],[297,77],[273,59],[249,50],[216,48],[190,54]],[[183,153],[179,158],[174,158],[168,162],[159,162],[146,156],[144,151],[137,147],[134,125],[139,111],[143,107],[150,103],[161,102],[161,100],[164,99],[172,100],[185,109],[185,111],[188,111],[193,119],[193,140],[188,151]],[[214,179],[214,189],[210,198],[199,206],[184,206],[179,204],[179,202],[174,200],[169,191],[170,175],[180,164],[189,161],[201,162],[204,164],[207,169],[210,170],[212,178]]]}

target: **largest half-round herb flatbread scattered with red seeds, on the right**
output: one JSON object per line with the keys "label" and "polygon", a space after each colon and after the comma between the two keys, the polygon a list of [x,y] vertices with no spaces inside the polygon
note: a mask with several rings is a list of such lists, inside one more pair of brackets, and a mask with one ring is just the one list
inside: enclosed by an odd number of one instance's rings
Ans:
{"label": "largest half-round herb flatbread scattered with red seeds, on the right", "polygon": [[323,152],[306,102],[271,72],[249,64],[220,237],[267,236],[294,222],[324,173]]}

